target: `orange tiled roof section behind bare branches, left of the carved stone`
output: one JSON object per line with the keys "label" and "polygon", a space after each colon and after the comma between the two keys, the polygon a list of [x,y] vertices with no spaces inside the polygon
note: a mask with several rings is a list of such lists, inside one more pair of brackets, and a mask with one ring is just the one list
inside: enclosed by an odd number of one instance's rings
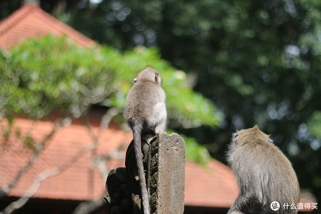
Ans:
{"label": "orange tiled roof section behind bare branches, left of the carved stone", "polygon": [[[29,161],[32,151],[22,145],[15,136],[4,140],[4,132],[8,128],[8,122],[3,119],[0,123],[0,186],[10,184],[18,174],[21,167]],[[40,142],[51,133],[54,123],[50,121],[33,121],[16,118],[12,133],[18,130],[22,136],[30,134],[31,138]],[[94,127],[97,132],[97,127]],[[119,147],[126,148],[132,140],[132,133],[122,130],[107,129],[100,133],[98,146],[95,150],[99,157],[113,155]],[[94,139],[88,129],[79,124],[62,126],[45,144],[36,161],[22,174],[17,184],[10,190],[9,196],[22,196],[28,190],[39,173],[54,168],[63,167],[79,154],[81,156],[68,168],[58,175],[45,179],[39,190],[33,196],[35,198],[64,199],[64,200],[97,200],[105,193],[106,177],[102,177],[97,168],[93,167],[92,146]],[[112,158],[106,161],[108,171],[116,167],[124,167],[125,156],[122,150],[121,158]],[[93,182],[91,186],[91,169],[93,170]],[[93,188],[93,191],[91,189]],[[91,196],[91,192],[93,195]]]}

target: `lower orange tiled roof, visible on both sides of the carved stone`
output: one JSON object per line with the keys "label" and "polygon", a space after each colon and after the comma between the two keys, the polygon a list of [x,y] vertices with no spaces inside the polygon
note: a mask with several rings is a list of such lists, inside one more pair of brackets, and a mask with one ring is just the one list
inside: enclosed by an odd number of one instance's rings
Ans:
{"label": "lower orange tiled roof, visible on both sides of the carved stone", "polygon": [[[32,151],[23,146],[15,134],[7,141],[4,140],[7,128],[7,120],[2,119],[0,122],[0,133],[2,133],[0,135],[0,186],[10,184],[32,155]],[[11,130],[12,133],[17,133],[19,130],[22,136],[29,134],[34,142],[40,142],[51,133],[53,128],[54,123],[51,121],[16,118]],[[93,130],[98,133],[99,127],[93,126]],[[131,132],[118,129],[100,132],[95,151],[97,157],[113,157],[105,161],[108,172],[113,168],[124,167],[123,158],[132,137]],[[31,187],[39,173],[57,166],[64,166],[81,153],[82,155],[62,173],[45,179],[33,197],[79,201],[101,198],[105,194],[106,177],[103,177],[96,167],[93,170],[93,182],[91,182],[93,151],[88,148],[93,140],[88,129],[81,124],[62,126],[48,140],[36,161],[22,174],[8,195],[22,196]],[[119,149],[120,153],[115,152]],[[120,157],[117,158],[115,155]],[[211,160],[207,167],[193,162],[186,163],[185,205],[227,208],[236,197],[237,185],[229,167],[217,160]]]}

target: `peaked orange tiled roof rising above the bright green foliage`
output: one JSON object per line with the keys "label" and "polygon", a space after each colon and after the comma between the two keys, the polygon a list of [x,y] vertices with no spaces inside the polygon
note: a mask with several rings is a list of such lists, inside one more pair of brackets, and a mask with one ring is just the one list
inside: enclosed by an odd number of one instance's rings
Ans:
{"label": "peaked orange tiled roof rising above the bright green foliage", "polygon": [[78,46],[95,47],[92,39],[57,20],[39,6],[23,5],[0,21],[0,48],[11,48],[28,38],[39,39],[54,34],[67,35]]}

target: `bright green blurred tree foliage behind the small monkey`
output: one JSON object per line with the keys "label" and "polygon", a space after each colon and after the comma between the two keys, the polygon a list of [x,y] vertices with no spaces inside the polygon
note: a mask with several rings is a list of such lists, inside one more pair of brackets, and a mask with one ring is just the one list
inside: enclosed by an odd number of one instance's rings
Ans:
{"label": "bright green blurred tree foliage behind the small monkey", "polygon": [[[125,53],[106,46],[93,50],[49,35],[40,41],[30,39],[10,52],[0,51],[0,64],[1,118],[41,119],[52,112],[78,118],[93,104],[122,109],[133,79],[149,64],[163,78],[169,124],[195,128],[218,123],[214,105],[195,93],[187,75],[160,59],[155,48],[142,46]],[[192,138],[189,142],[197,147]],[[193,159],[205,160],[204,152],[194,153]]]}

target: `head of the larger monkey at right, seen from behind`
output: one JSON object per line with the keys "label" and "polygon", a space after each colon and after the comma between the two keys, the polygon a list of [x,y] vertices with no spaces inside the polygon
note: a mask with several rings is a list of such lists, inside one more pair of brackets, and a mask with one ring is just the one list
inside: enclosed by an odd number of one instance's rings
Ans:
{"label": "head of the larger monkey at right, seen from behind", "polygon": [[264,143],[267,141],[272,142],[270,139],[270,135],[265,134],[257,125],[253,128],[242,129],[233,134],[232,141],[234,141],[237,145],[243,145],[246,143]]}

